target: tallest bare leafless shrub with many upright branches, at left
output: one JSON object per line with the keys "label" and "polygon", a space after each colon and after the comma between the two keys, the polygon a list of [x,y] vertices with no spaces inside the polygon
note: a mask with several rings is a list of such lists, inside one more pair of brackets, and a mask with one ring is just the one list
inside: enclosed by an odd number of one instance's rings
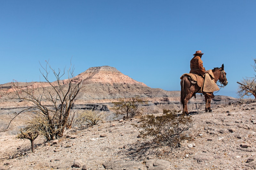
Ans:
{"label": "tallest bare leafless shrub with many upright branches, at left", "polygon": [[[74,77],[74,68],[71,69],[71,64],[68,69],[68,78],[65,81],[61,80],[65,75],[65,69],[63,72],[60,69],[55,71],[47,61],[46,66],[41,65],[41,67],[44,70],[41,74],[46,82],[39,82],[37,87],[20,86],[17,81],[13,82],[16,96],[12,98],[28,103],[28,107],[22,109],[14,118],[25,111],[41,115],[37,117],[33,127],[44,131],[42,134],[47,140],[53,140],[62,137],[64,129],[72,126],[74,115],[70,115],[70,112],[82,88],[82,80]],[[56,81],[50,82],[50,72],[57,79]]]}

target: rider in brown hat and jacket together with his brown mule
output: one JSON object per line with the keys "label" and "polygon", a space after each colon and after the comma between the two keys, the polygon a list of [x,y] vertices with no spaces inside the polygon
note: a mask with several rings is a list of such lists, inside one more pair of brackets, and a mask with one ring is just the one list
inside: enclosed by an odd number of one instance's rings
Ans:
{"label": "rider in brown hat and jacket together with his brown mule", "polygon": [[220,90],[216,85],[217,81],[224,86],[228,84],[226,72],[224,71],[224,64],[221,68],[214,68],[212,70],[205,70],[203,61],[201,59],[202,53],[200,50],[196,51],[194,57],[190,61],[190,73],[183,74],[180,79],[180,102],[183,107],[183,113],[188,113],[188,100],[193,96],[196,98],[196,93],[203,93],[205,96],[205,112],[212,112],[211,99],[214,98],[213,92]]}

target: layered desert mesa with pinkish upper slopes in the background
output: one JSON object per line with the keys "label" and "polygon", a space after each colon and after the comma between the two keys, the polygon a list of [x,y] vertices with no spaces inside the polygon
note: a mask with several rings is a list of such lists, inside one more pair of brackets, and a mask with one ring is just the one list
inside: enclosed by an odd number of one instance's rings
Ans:
{"label": "layered desert mesa with pinkish upper slopes in the background", "polygon": [[[97,110],[105,111],[106,117],[109,120],[114,118],[113,112],[109,111],[113,106],[112,102],[117,101],[119,98],[131,98],[135,96],[143,98],[145,101],[148,101],[148,105],[144,106],[146,114],[160,113],[163,108],[182,109],[180,106],[180,91],[165,91],[160,88],[150,88],[144,83],[122,74],[114,67],[92,67],[77,75],[76,78],[76,81],[83,81],[83,88],[74,101],[74,109],[96,108]],[[66,82],[67,80],[63,80],[64,85]],[[28,82],[19,83],[19,85],[28,85],[29,88],[49,86],[47,82]],[[12,119],[13,113],[19,112],[19,107],[24,108],[26,105],[22,106],[22,102],[20,102],[18,106],[16,101],[5,96],[6,93],[13,92],[12,83],[0,85],[0,91],[2,94],[0,97],[0,124],[2,124],[0,128],[4,128]],[[236,99],[232,97],[215,96],[212,100],[212,107],[235,101]],[[196,99],[192,98],[188,104],[189,110],[198,110],[204,107],[204,97],[200,96],[200,94],[196,96]],[[15,123],[19,125],[16,129],[19,129],[23,124],[23,119],[27,119],[28,117],[28,115],[21,116],[18,122]]]}

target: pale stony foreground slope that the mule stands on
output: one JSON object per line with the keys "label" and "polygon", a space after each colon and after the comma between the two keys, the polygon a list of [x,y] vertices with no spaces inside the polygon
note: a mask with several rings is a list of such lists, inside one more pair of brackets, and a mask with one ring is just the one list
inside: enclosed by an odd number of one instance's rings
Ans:
{"label": "pale stony foreground slope that the mule stands on", "polygon": [[256,169],[256,102],[212,109],[192,111],[192,140],[172,150],[140,138],[136,118],[69,129],[48,143],[38,137],[35,153],[29,140],[3,136],[0,169]]}

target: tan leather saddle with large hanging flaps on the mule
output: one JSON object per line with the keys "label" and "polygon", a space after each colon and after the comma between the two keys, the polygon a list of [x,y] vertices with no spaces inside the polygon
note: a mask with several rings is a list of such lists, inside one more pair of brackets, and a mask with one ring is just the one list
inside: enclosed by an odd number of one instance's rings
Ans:
{"label": "tan leather saddle with large hanging flaps on the mule", "polygon": [[183,77],[187,77],[192,84],[197,84],[199,87],[201,87],[200,91],[196,93],[206,93],[212,96],[212,92],[220,90],[220,88],[216,85],[216,82],[214,81],[214,75],[212,73],[212,70],[207,70],[204,74],[204,78],[194,73],[185,73],[180,77],[180,79],[182,79]]}

